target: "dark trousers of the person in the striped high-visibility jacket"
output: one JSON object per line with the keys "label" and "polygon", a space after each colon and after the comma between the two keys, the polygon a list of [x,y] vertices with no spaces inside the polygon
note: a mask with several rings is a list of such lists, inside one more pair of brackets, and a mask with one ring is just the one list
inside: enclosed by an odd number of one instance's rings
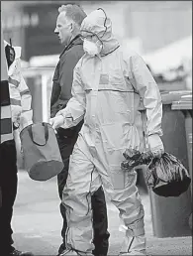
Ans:
{"label": "dark trousers of the person in the striped high-visibility jacket", "polygon": [[2,255],[14,250],[11,220],[18,186],[16,163],[15,141],[11,140],[0,144],[0,254],[2,253]]}

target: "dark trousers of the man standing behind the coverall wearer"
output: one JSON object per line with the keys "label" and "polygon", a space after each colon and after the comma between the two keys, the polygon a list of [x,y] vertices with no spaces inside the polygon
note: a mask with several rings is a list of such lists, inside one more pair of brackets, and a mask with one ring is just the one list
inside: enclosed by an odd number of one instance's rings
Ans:
{"label": "dark trousers of the man standing behind the coverall wearer", "polygon": [[[70,155],[72,152],[74,143],[77,138],[73,139],[64,139],[61,136],[57,135],[57,142],[59,145],[61,157],[63,159],[64,168],[61,173],[57,176],[57,185],[59,197],[62,199],[62,191],[66,184],[68,168],[69,168],[69,158],[66,156]],[[78,170],[77,170],[78,172]],[[93,229],[94,229],[94,239],[93,243],[95,245],[95,250],[93,254],[96,256],[107,255],[109,248],[109,232],[108,229],[108,218],[107,218],[107,207],[104,191],[101,188],[91,196],[91,204],[93,209]],[[63,243],[59,247],[59,251],[65,249],[65,231],[67,229],[67,221],[65,216],[65,207],[60,203],[60,212],[63,218],[63,226],[61,229],[61,236],[63,238]]]}

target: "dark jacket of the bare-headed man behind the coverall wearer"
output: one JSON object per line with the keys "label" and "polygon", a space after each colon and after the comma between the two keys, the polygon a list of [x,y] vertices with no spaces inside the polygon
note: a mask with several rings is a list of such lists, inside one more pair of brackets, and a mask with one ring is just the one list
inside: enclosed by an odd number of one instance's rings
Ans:
{"label": "dark jacket of the bare-headed man behind the coverall wearer", "polygon": [[[60,54],[52,78],[50,117],[54,117],[60,109],[65,108],[71,98],[73,69],[83,55],[83,43],[79,36],[75,37]],[[73,137],[81,129],[82,123],[83,121],[69,129],[58,128],[57,132],[67,137]]]}

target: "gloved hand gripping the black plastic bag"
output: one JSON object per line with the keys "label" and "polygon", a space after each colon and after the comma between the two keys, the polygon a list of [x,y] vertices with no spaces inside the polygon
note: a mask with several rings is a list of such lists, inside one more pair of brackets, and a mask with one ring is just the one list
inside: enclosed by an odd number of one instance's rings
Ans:
{"label": "gloved hand gripping the black plastic bag", "polygon": [[147,139],[148,149],[154,157],[160,158],[164,153],[163,143],[158,134],[152,134]]}

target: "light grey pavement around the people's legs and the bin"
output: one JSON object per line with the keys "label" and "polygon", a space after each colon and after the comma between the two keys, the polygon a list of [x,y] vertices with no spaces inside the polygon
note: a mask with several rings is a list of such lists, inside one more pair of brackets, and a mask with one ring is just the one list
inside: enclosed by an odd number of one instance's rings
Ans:
{"label": "light grey pavement around the people's legs and the bin", "polygon": [[[153,236],[148,194],[141,191],[145,206],[147,253],[150,255],[192,255],[192,237],[156,238]],[[119,230],[117,208],[108,200],[110,231],[109,255],[118,255],[124,232]],[[19,172],[19,188],[12,220],[17,249],[35,255],[56,255],[61,242],[61,216],[56,179],[47,182],[31,180],[26,171]]]}

